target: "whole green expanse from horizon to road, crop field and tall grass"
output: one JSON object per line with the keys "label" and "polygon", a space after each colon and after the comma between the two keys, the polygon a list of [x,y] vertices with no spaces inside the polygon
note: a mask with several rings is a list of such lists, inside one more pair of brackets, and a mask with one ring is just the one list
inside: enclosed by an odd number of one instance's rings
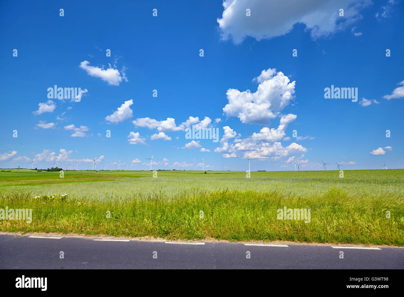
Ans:
{"label": "whole green expanse from horizon to road, crop field and tall grass", "polygon": [[[0,172],[0,209],[32,209],[32,223],[0,231],[404,246],[403,169],[16,171]],[[310,222],[278,219],[284,206],[310,209]]]}

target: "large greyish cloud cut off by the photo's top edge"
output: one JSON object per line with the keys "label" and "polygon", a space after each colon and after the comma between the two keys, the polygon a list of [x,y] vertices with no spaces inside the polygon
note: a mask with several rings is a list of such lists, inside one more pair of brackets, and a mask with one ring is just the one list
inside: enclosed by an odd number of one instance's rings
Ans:
{"label": "large greyish cloud cut off by the photo's top edge", "polygon": [[[256,40],[287,34],[296,23],[303,23],[313,39],[341,31],[362,16],[359,11],[370,0],[225,0],[221,19],[217,19],[221,38],[231,36],[235,44],[247,36]],[[339,17],[339,9],[344,16]],[[246,16],[250,9],[250,17]]]}

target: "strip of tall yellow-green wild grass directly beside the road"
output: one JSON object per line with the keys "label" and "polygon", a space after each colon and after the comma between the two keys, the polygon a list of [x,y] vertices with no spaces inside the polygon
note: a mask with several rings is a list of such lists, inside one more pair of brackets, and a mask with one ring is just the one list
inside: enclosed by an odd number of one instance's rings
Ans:
{"label": "strip of tall yellow-green wild grass directly beside the road", "polygon": [[[174,198],[162,192],[65,201],[34,197],[32,192],[1,195],[0,209],[32,209],[33,217],[32,223],[1,219],[0,231],[404,246],[404,198],[389,193],[350,196],[331,187],[307,197],[239,190],[184,190]],[[277,210],[284,206],[310,209],[310,222],[278,220]]]}

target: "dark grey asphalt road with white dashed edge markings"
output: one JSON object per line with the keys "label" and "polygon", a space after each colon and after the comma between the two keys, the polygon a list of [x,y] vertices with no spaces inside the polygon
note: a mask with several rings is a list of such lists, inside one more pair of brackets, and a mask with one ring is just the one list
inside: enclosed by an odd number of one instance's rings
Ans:
{"label": "dark grey asphalt road with white dashed edge markings", "polygon": [[[404,248],[394,247],[343,249],[301,244],[179,244],[146,240],[102,241],[63,235],[62,238],[45,237],[0,234],[0,269],[404,268]],[[343,259],[340,258],[341,251]],[[248,252],[250,258],[247,258]]]}

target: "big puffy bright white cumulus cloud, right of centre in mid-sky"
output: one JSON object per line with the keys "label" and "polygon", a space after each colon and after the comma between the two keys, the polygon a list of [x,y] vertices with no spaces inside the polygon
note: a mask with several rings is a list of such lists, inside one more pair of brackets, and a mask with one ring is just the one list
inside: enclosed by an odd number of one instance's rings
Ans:
{"label": "big puffy bright white cumulus cloud, right of centre in mid-sky", "polygon": [[229,117],[237,116],[243,123],[269,124],[293,99],[295,81],[290,82],[282,72],[276,73],[271,68],[263,70],[254,80],[259,82],[255,93],[227,90],[229,103],[223,112]]}

